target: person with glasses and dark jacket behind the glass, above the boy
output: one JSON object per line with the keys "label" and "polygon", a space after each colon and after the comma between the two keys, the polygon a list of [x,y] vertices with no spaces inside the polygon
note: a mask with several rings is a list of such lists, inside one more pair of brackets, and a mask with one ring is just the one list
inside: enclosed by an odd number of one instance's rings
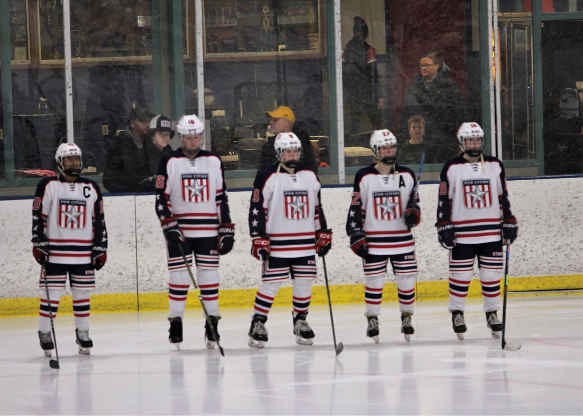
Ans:
{"label": "person with glasses and dark jacket behind the glass, above the boy", "polygon": [[407,89],[399,126],[405,132],[409,117],[421,115],[432,147],[442,150],[435,155],[436,162],[442,163],[459,155],[455,135],[465,119],[465,104],[458,84],[449,76],[449,66],[436,52],[423,55],[419,71]]}

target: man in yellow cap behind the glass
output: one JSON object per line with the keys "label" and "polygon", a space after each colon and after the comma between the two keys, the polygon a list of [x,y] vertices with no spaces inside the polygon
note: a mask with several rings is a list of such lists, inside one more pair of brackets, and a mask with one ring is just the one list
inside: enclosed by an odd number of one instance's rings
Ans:
{"label": "man in yellow cap behind the glass", "polygon": [[293,110],[285,105],[280,105],[275,110],[266,112],[265,117],[270,118],[270,132],[273,133],[273,136],[268,138],[268,142],[265,143],[263,149],[261,149],[261,163],[259,165],[259,170],[271,166],[278,161],[275,155],[275,149],[273,148],[273,142],[275,142],[276,136],[279,133],[293,132],[298,136],[301,142],[300,163],[306,165],[315,173],[318,173],[318,164],[314,157],[314,149],[312,149],[310,144],[310,136],[303,129],[295,126],[296,115],[293,113]]}

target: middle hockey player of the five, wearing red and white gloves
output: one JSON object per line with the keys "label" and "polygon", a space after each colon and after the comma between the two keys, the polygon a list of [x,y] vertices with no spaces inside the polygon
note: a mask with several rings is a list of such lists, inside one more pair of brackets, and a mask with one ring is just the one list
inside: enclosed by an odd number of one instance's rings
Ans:
{"label": "middle hockey player of the five, wearing red and white gloves", "polygon": [[278,163],[258,172],[249,209],[251,254],[262,261],[262,283],[255,297],[248,341],[256,348],[263,348],[268,341],[265,322],[269,309],[282,282],[290,276],[296,343],[314,343],[306,317],[317,276],[315,254],[324,256],[332,246],[319,179],[298,163],[300,139],[294,133],[279,133],[273,146]]}

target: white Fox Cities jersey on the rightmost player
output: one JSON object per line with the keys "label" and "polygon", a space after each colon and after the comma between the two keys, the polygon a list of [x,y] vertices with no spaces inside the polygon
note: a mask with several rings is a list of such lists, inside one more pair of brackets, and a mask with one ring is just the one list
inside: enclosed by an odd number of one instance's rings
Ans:
{"label": "white Fox Cities jersey on the rightmost player", "polygon": [[437,224],[454,224],[456,242],[479,244],[498,241],[503,218],[510,218],[504,166],[498,158],[484,156],[484,164],[463,156],[441,170]]}

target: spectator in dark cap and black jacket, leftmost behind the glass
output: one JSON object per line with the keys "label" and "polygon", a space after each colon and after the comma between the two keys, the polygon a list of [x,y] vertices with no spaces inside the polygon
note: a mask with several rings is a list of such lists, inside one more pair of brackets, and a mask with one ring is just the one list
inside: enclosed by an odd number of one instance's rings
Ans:
{"label": "spectator in dark cap and black jacket, leftmost behind the glass", "polygon": [[150,176],[144,144],[152,115],[142,105],[129,112],[129,124],[120,132],[113,149],[107,151],[103,186],[109,192],[149,191],[139,184]]}

